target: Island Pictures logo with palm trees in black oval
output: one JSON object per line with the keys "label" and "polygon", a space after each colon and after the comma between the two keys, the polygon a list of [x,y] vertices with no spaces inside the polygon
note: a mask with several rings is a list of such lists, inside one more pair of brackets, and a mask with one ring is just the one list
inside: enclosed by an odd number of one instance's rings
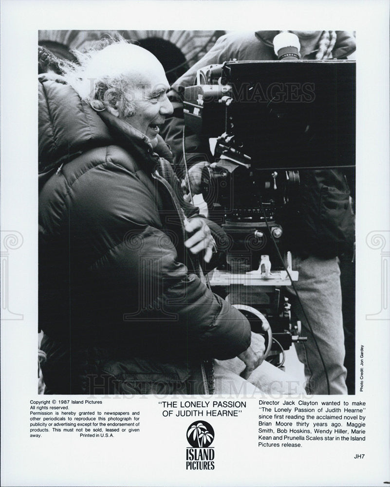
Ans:
{"label": "Island Pictures logo with palm trees in black oval", "polygon": [[214,429],[206,421],[195,421],[187,429],[187,470],[214,470]]}

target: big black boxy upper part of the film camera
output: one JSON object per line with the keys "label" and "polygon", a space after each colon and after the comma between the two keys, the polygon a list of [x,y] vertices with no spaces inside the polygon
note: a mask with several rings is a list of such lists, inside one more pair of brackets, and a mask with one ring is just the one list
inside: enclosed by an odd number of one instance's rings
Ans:
{"label": "big black boxy upper part of the film camera", "polygon": [[186,130],[224,134],[221,153],[225,142],[260,169],[354,166],[354,61],[228,61],[200,71],[184,92]]}

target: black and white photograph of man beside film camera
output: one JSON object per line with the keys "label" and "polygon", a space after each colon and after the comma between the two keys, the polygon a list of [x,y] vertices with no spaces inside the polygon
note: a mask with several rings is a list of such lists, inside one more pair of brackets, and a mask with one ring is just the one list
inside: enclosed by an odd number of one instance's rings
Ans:
{"label": "black and white photograph of man beside film camera", "polygon": [[354,33],[38,36],[44,393],[354,394]]}

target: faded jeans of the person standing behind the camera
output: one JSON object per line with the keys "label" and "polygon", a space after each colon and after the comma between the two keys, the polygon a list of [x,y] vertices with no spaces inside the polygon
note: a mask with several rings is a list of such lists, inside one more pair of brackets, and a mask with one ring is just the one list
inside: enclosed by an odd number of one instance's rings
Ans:
{"label": "faded jeans of the person standing behind the camera", "polygon": [[[347,394],[340,269],[337,258],[293,257],[293,269],[299,272],[295,285],[325,363],[330,393]],[[292,286],[287,287],[286,290],[291,302],[293,319],[301,321],[301,335],[307,337],[306,342],[296,344],[298,358],[305,366],[306,392],[327,394],[324,366],[313,334],[303,316]]]}

